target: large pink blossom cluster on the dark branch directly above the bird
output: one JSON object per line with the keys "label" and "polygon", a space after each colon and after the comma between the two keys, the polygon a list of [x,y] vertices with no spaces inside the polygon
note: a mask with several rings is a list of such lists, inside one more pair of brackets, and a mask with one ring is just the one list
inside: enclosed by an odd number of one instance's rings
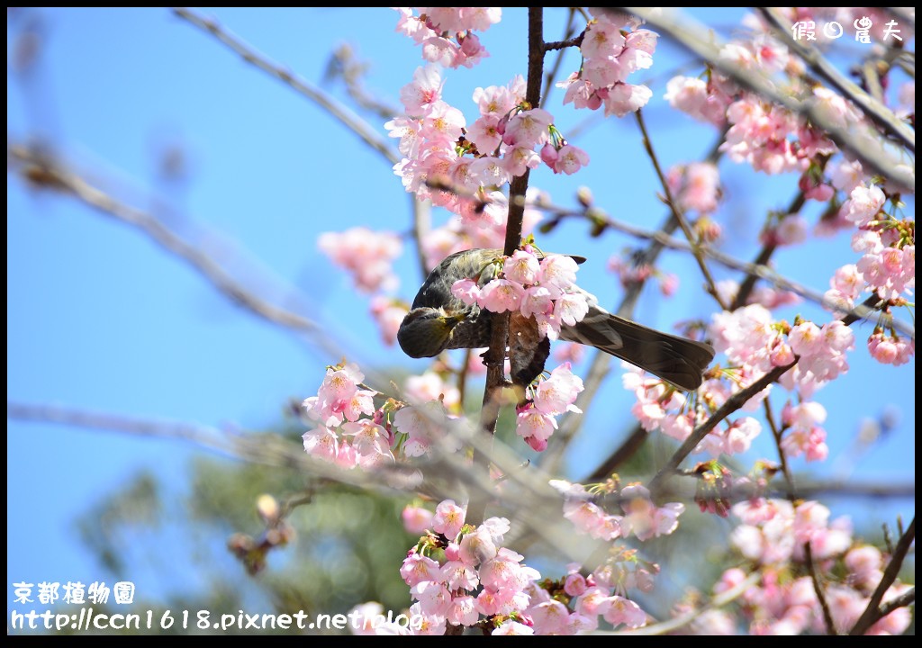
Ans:
{"label": "large pink blossom cluster on the dark branch directly above the bird", "polygon": [[437,67],[420,67],[400,91],[405,114],[384,124],[399,137],[404,156],[394,171],[420,199],[489,228],[503,222],[499,189],[515,176],[542,160],[557,173],[588,163],[585,151],[563,139],[550,112],[526,102],[522,77],[504,87],[477,88],[480,115],[469,127],[464,114],[442,99],[442,88]]}

